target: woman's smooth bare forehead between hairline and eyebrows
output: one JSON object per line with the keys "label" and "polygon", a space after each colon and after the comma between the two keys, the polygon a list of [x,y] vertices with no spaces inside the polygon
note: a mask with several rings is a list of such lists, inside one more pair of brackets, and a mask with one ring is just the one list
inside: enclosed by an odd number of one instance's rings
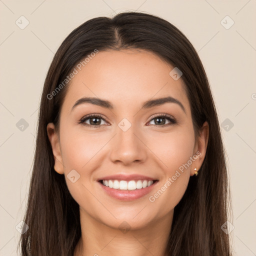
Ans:
{"label": "woman's smooth bare forehead between hairline and eyebrows", "polygon": [[183,81],[169,75],[173,66],[150,51],[99,51],[83,65],[75,67],[63,107],[84,96],[107,99],[114,107],[140,105],[161,96],[177,98],[185,108],[189,105]]}

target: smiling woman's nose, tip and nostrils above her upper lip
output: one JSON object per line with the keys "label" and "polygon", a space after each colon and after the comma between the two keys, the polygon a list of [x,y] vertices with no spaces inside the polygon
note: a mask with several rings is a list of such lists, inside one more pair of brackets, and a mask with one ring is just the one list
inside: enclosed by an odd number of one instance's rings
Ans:
{"label": "smiling woman's nose, tip and nostrils above her upper lip", "polygon": [[143,162],[146,159],[146,145],[143,137],[133,125],[123,131],[117,126],[116,134],[112,139],[110,159],[113,162],[122,162],[124,165],[133,162]]}

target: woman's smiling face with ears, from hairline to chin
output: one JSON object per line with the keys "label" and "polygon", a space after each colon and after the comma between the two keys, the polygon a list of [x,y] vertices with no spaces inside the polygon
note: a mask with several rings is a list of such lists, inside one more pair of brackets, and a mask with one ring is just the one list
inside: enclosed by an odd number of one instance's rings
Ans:
{"label": "woman's smiling face with ears, from hairline to chin", "polygon": [[[59,133],[52,123],[47,131],[55,170],[65,175],[80,214],[134,229],[170,217],[206,147],[194,137],[182,80],[144,50],[99,51],[76,69]],[[156,101],[165,97],[171,100]]]}

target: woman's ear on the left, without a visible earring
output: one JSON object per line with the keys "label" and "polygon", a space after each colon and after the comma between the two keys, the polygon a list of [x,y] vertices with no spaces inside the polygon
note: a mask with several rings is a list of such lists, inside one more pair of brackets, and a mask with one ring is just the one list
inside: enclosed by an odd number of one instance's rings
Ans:
{"label": "woman's ear on the left, without a visible earring", "polygon": [[59,173],[64,173],[64,166],[62,161],[62,155],[60,151],[59,135],[55,130],[55,126],[52,122],[47,124],[47,134],[51,144],[52,153],[54,156],[54,170]]}

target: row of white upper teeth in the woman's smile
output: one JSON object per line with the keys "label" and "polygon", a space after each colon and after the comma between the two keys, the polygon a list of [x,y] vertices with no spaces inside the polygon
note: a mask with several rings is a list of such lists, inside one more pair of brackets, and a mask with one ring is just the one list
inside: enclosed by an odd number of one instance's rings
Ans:
{"label": "row of white upper teeth in the woman's smile", "polygon": [[102,184],[114,189],[135,190],[145,188],[153,184],[153,180],[102,180]]}

